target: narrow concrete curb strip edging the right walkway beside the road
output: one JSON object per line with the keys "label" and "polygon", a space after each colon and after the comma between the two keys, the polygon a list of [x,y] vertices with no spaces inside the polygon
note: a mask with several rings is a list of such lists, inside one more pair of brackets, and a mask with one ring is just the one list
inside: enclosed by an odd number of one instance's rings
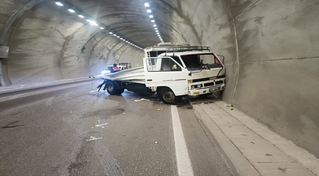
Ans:
{"label": "narrow concrete curb strip edging the right walkway beside the road", "polygon": [[199,105],[193,111],[235,176],[261,176]]}

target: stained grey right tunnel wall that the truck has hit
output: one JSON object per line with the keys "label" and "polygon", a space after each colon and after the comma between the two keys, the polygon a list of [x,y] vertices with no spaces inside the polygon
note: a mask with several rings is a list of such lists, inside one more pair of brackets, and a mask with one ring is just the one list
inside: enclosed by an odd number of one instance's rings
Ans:
{"label": "stained grey right tunnel wall that the truck has hit", "polygon": [[186,42],[225,56],[224,101],[319,155],[318,0],[161,0],[158,13],[165,3]]}

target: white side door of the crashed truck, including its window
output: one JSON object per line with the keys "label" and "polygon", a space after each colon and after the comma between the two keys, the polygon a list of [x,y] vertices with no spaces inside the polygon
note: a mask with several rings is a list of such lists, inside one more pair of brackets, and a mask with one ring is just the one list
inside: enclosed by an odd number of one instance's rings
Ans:
{"label": "white side door of the crashed truck, including its window", "polygon": [[175,95],[188,94],[187,71],[171,57],[143,58],[146,87],[165,86]]}

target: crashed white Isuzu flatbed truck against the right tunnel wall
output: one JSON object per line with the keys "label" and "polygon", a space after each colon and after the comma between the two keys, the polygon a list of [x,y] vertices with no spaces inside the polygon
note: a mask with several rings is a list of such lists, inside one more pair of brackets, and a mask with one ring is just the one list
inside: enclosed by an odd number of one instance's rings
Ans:
{"label": "crashed white Isuzu flatbed truck against the right tunnel wall", "polygon": [[[207,96],[225,88],[225,68],[209,46],[154,46],[144,49],[143,67],[93,75],[105,81],[110,95],[125,89],[154,94],[165,104],[175,105],[183,96]],[[100,90],[99,89],[99,90]]]}

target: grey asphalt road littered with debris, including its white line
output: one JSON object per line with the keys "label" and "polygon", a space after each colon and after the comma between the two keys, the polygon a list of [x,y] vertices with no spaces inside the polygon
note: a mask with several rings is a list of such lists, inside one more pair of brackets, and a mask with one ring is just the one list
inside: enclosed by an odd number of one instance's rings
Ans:
{"label": "grey asphalt road littered with debris, including its white line", "polygon": [[100,83],[0,94],[0,176],[232,176],[187,103]]}

